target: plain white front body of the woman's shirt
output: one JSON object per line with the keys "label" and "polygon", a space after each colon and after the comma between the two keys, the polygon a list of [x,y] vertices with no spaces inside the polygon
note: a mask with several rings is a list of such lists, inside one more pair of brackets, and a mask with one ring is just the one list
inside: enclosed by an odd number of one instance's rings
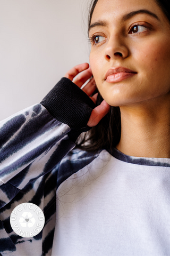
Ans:
{"label": "plain white front body of the woman's shirt", "polygon": [[170,255],[170,159],[129,158],[103,150],[58,187],[52,255]]}

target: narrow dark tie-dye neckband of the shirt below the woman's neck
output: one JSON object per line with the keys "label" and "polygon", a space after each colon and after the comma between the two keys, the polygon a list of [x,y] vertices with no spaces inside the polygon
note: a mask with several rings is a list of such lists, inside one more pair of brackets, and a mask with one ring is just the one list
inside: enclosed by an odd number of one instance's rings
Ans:
{"label": "narrow dark tie-dye neckband of the shirt below the woman's neck", "polygon": [[126,163],[170,167],[170,158],[128,156],[119,151],[117,148],[112,149],[111,155]]}

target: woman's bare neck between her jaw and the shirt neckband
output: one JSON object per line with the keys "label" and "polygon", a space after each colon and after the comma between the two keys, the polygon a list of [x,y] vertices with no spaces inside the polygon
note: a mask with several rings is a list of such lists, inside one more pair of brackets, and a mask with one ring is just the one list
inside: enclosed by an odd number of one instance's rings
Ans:
{"label": "woman's bare neck between her jaw and the shirt neckband", "polygon": [[121,106],[122,153],[137,157],[170,158],[170,99],[151,99]]}

